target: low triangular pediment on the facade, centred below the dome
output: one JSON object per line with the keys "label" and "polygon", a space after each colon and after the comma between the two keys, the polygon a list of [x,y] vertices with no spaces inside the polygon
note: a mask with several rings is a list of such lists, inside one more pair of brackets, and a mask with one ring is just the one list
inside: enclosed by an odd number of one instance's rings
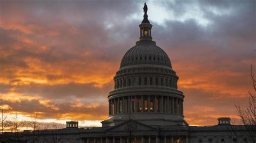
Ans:
{"label": "low triangular pediment on the facade, centred below the dome", "polygon": [[153,128],[149,125],[140,123],[138,121],[124,121],[124,123],[118,124],[116,126],[113,126],[109,128],[109,132],[117,132],[117,131],[152,131],[156,130],[156,128]]}

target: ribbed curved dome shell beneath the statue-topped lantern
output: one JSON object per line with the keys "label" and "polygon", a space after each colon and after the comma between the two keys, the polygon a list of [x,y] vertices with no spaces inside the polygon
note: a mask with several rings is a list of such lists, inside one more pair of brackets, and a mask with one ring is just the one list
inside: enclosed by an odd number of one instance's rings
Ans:
{"label": "ribbed curved dome shell beneath the statue-topped lantern", "polygon": [[172,68],[168,55],[153,41],[139,41],[125,53],[120,68],[130,65],[161,65]]}

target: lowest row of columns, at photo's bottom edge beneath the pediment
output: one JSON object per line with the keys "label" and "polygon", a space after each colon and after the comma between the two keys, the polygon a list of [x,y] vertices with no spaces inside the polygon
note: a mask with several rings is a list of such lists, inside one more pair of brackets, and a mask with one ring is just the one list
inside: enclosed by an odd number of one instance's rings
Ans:
{"label": "lowest row of columns, at photo's bottom edge beneath the pediment", "polygon": [[[137,139],[139,139],[139,138],[134,137],[132,142],[133,143],[138,142]],[[177,137],[177,138],[171,137],[169,139],[171,140],[171,143],[185,143],[184,141],[183,142],[181,141],[181,137]],[[140,137],[140,140],[141,140],[142,143],[146,143],[144,137]],[[147,140],[148,140],[147,141],[148,143],[151,143],[152,138],[149,137],[149,138],[147,138]],[[160,143],[159,137],[154,138],[154,140],[156,140],[156,143]],[[100,143],[103,143],[103,142],[105,142],[105,143],[116,143],[116,137],[113,137],[113,138],[100,138],[100,140],[98,140],[97,138],[93,139],[93,143],[98,143],[98,141],[100,141]],[[130,143],[130,138],[119,137],[119,142],[120,143]],[[87,138],[86,143],[90,143],[90,139],[89,138]],[[167,137],[166,136],[164,137],[164,143],[167,143]],[[187,136],[186,136],[186,143],[188,143],[188,137]]]}

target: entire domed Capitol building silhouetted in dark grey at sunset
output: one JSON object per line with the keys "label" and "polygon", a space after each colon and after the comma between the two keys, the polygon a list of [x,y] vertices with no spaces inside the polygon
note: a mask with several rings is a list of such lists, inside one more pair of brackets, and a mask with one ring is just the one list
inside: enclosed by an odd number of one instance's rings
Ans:
{"label": "entire domed Capitol building silhouetted in dark grey at sunset", "polygon": [[[67,121],[66,128],[58,131],[36,131],[35,142],[248,142],[232,134],[231,126],[238,128],[239,133],[246,130],[231,125],[228,117],[216,119],[214,126],[188,125],[183,111],[185,95],[178,90],[178,73],[172,68],[169,56],[152,40],[151,31],[145,4],[139,40],[124,54],[113,77],[114,88],[107,96],[109,117],[102,121],[102,127],[79,128],[77,121]],[[3,135],[0,135],[2,140]],[[31,135],[29,131],[19,133],[23,142],[32,142]],[[5,134],[4,138],[14,139],[14,135]]]}

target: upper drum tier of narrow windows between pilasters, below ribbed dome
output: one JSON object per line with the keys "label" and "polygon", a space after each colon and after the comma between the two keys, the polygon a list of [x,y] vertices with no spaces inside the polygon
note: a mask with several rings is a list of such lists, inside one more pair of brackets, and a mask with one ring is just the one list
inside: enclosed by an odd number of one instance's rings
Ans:
{"label": "upper drum tier of narrow windows between pilasters, below ribbed dome", "polygon": [[171,77],[125,77],[115,80],[114,89],[136,85],[158,85],[177,89],[177,80]]}

